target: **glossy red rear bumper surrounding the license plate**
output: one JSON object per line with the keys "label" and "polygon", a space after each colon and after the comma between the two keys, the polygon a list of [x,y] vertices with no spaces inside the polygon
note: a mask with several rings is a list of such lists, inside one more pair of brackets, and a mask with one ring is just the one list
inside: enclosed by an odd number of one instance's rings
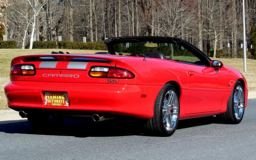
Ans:
{"label": "glossy red rear bumper surrounding the license plate", "polygon": [[[81,113],[111,113],[150,119],[161,86],[13,81],[5,87],[8,106],[14,110],[43,109]],[[44,105],[45,91],[67,92],[70,106]],[[143,98],[146,95],[146,98]]]}

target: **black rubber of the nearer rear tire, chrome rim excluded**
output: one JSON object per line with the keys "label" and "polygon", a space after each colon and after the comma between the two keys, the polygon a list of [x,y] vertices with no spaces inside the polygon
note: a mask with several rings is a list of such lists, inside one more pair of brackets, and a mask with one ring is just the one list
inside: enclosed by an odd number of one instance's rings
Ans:
{"label": "black rubber of the nearer rear tire, chrome rim excluded", "polygon": [[[164,124],[163,120],[163,103],[164,99],[166,96],[166,93],[172,90],[175,92],[177,96],[177,108],[178,108],[178,113],[177,113],[177,123],[175,127],[172,128],[171,131],[167,131],[166,126]],[[145,130],[146,133],[151,135],[151,136],[161,136],[161,137],[166,137],[166,136],[171,136],[178,125],[179,122],[179,116],[180,116],[180,103],[179,103],[179,97],[177,94],[176,88],[172,84],[165,84],[163,88],[160,90],[160,92],[157,95],[157,99],[154,103],[154,116],[151,119],[148,119],[147,122],[145,123]]]}

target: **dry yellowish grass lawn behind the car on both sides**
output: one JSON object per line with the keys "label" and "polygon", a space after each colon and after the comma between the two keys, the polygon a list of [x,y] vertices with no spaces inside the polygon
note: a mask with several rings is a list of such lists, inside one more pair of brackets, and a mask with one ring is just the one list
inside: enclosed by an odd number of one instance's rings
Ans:
{"label": "dry yellowish grass lawn behind the car on both sides", "polygon": [[[95,50],[73,50],[73,49],[59,49],[62,52],[70,53],[94,53],[100,52]],[[7,107],[6,97],[4,95],[4,86],[9,83],[9,71],[10,62],[12,58],[20,55],[29,54],[42,54],[50,53],[52,51],[57,52],[57,49],[0,49],[0,109],[9,109]],[[247,72],[243,72],[243,59],[233,58],[224,59],[216,58],[216,60],[222,61],[224,65],[236,68],[239,70],[247,80],[249,90],[256,90],[256,60],[247,59]]]}

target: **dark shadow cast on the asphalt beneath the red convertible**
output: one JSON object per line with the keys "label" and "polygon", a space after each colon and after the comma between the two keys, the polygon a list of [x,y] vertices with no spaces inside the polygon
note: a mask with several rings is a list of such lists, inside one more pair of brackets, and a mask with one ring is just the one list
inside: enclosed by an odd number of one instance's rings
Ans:
{"label": "dark shadow cast on the asphalt beneath the red convertible", "polygon": [[[218,123],[212,117],[181,120],[177,129],[190,128],[201,125]],[[143,134],[143,121],[137,119],[111,119],[102,122],[92,122],[92,120],[65,119],[64,125],[54,128],[33,129],[28,121],[9,121],[0,123],[0,132],[8,134],[41,134],[59,135],[73,137],[115,137],[131,136]]]}

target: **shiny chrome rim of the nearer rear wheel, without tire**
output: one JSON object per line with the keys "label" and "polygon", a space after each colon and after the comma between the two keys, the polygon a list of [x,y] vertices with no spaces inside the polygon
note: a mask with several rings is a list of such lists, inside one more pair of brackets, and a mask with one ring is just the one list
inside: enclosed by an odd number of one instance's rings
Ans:
{"label": "shiny chrome rim of the nearer rear wheel, without tire", "polygon": [[163,100],[163,124],[166,131],[175,130],[179,116],[179,102],[174,90],[168,90]]}

